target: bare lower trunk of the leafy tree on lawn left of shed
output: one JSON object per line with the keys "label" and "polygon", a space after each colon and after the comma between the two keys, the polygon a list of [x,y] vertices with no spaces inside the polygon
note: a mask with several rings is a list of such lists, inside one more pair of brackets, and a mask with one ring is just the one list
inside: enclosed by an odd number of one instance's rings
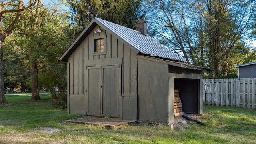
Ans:
{"label": "bare lower trunk of the leafy tree on lawn left of shed", "polygon": [[39,96],[39,90],[38,90],[38,69],[37,69],[37,63],[35,61],[31,62],[31,71],[32,71],[32,96],[31,100],[41,100]]}

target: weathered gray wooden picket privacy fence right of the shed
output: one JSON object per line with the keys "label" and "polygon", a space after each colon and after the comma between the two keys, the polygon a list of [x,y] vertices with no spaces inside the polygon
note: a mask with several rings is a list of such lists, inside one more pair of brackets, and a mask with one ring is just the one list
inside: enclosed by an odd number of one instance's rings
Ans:
{"label": "weathered gray wooden picket privacy fence right of the shed", "polygon": [[203,102],[207,105],[255,109],[256,78],[203,79]]}

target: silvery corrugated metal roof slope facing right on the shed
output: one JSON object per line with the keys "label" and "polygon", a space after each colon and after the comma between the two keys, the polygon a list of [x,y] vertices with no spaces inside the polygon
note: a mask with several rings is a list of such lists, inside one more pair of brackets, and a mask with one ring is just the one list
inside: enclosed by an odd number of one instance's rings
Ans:
{"label": "silvery corrugated metal roof slope facing right on the shed", "polygon": [[142,54],[148,54],[154,57],[186,62],[186,60],[184,60],[150,36],[145,36],[139,31],[132,30],[130,28],[126,28],[124,26],[102,20],[100,18],[95,19],[103,25],[102,28],[110,30]]}

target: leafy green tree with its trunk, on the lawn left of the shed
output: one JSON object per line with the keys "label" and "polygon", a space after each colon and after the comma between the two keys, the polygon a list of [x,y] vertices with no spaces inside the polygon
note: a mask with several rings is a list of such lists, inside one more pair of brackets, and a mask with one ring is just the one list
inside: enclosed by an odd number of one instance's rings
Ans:
{"label": "leafy green tree with its trunk, on the lawn left of the shed", "polygon": [[38,72],[46,68],[46,62],[57,62],[69,41],[63,32],[68,25],[67,12],[57,6],[47,8],[39,4],[26,10],[21,16],[16,36],[17,50],[28,62],[32,72],[32,100],[40,100]]}

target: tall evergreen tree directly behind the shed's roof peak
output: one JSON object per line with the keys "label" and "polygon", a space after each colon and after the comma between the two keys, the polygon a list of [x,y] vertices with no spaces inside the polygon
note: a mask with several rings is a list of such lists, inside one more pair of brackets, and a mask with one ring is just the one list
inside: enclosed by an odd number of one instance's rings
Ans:
{"label": "tall evergreen tree directly behind the shed's roof peak", "polygon": [[75,39],[95,17],[135,28],[145,16],[142,0],[68,0],[72,16],[68,32]]}

